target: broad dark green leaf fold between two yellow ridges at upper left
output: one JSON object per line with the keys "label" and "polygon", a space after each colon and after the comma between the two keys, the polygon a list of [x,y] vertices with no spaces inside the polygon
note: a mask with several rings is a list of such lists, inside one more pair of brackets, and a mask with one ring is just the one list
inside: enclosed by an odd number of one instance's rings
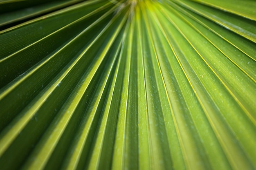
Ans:
{"label": "broad dark green leaf fold between two yellow ridges at upper left", "polygon": [[[100,13],[100,11],[102,11],[101,9],[104,10],[104,9],[106,9],[106,7],[108,5],[111,5],[110,3],[107,5],[104,5],[105,3],[103,3],[103,4],[101,4],[102,7],[100,6],[100,8],[97,9],[100,4],[90,5],[90,3],[85,3],[85,5],[81,5],[81,7],[78,6],[79,8],[78,7],[70,8],[67,11],[63,10],[61,12],[57,12],[54,14],[45,15],[42,18],[36,19],[35,22],[31,22],[31,23],[27,23],[27,24],[26,23],[20,24],[19,26],[16,26],[15,28],[13,28],[11,30],[3,31],[1,33],[2,38],[0,40],[1,43],[4,42],[4,43],[2,43],[2,46],[1,46],[1,49],[3,50],[3,52],[1,53],[0,57],[1,58],[8,57],[9,55],[11,55],[17,51],[20,51],[21,49],[33,44],[34,42],[37,42],[38,40],[45,40],[44,37],[49,36],[49,34],[56,36],[56,34],[52,34],[52,33],[61,33],[61,31],[65,31],[65,29],[69,28],[69,26],[74,26],[75,24],[83,23],[82,21],[84,19],[90,18],[90,16],[92,17],[95,14],[97,15],[97,12]],[[90,9],[86,9],[86,7],[88,7],[88,5],[90,5]],[[79,13],[74,14],[75,10],[77,10]],[[95,12],[95,10],[96,10],[96,12]],[[94,14],[94,15],[92,15],[92,14]],[[80,20],[79,20],[79,18],[80,18]],[[61,22],[61,21],[59,21],[61,19],[65,19],[65,20],[63,22]],[[57,24],[55,25],[54,23],[57,23]],[[47,27],[45,25],[51,25],[51,26]],[[90,24],[88,23],[88,26],[89,25]],[[79,26],[79,25],[76,25],[76,26]],[[86,24],[83,24],[83,26],[86,26]],[[64,29],[61,29],[63,27],[64,27]],[[37,32],[42,29],[44,30],[44,32],[37,34]],[[75,34],[76,31],[83,30],[83,29],[84,29],[83,27],[73,28],[72,32],[69,34]],[[66,31],[68,31],[68,30],[66,30]],[[22,38],[22,37],[16,36],[21,33],[22,33],[22,35],[25,35],[26,37]],[[67,35],[69,35],[69,34],[67,34]],[[62,38],[62,37],[63,37],[63,35],[58,35],[58,38]],[[54,39],[54,37],[52,37],[52,39]],[[67,41],[65,39],[62,39],[62,40]],[[48,40],[48,43],[49,42],[52,43],[52,40]],[[15,46],[13,45],[14,43],[16,44]],[[43,43],[43,42],[41,42],[41,43]],[[45,44],[47,44],[47,43],[45,43]],[[58,44],[58,42],[55,44]],[[53,44],[53,45],[55,45],[55,44]],[[47,46],[45,46],[45,47],[47,47]],[[38,51],[40,51],[40,49],[42,49],[43,47],[41,45],[41,46],[38,46],[38,48],[39,48]],[[48,47],[48,49],[49,49],[49,47]],[[18,59],[19,58],[17,58],[17,60]],[[15,61],[17,61],[17,60],[15,60]],[[15,61],[14,61],[14,63],[15,63]]]}

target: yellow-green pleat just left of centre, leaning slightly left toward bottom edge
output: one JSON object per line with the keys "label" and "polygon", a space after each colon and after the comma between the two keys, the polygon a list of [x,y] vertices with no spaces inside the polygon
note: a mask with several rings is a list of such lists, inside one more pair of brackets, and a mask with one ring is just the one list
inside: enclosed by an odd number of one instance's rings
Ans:
{"label": "yellow-green pleat just left of centre, leaning slightly left toward bottom edge", "polygon": [[[132,104],[130,89],[132,88],[132,67],[134,62],[132,62],[134,57],[132,57],[132,41],[133,41],[133,32],[134,32],[134,16],[132,15],[133,7],[131,6],[129,9],[129,18],[126,23],[125,32],[127,33],[127,38],[124,40],[123,46],[126,46],[127,49],[122,51],[122,54],[126,56],[124,60],[126,60],[124,77],[123,77],[123,87],[121,92],[121,101],[119,106],[119,115],[117,122],[117,133],[115,139],[115,147],[113,153],[113,161],[112,161],[112,169],[124,169],[131,168],[130,166],[137,166],[137,163],[129,165],[130,159],[126,155],[130,154],[131,147],[131,139],[129,132],[131,131],[130,126],[132,124],[130,116],[133,115],[130,105]],[[135,125],[136,126],[136,125]],[[136,138],[136,137],[135,137]],[[136,140],[136,139],[134,139]],[[134,141],[136,144],[136,141]],[[136,147],[136,146],[135,146]],[[126,155],[124,155],[126,154]],[[136,156],[136,152],[134,157]],[[134,168],[135,168],[134,167]]]}

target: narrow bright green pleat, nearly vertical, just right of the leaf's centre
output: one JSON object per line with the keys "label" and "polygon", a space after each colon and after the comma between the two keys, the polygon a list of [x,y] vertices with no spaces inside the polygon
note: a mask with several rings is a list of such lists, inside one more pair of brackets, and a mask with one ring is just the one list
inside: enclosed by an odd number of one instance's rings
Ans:
{"label": "narrow bright green pleat, nearly vertical, just right of the leaf's centre", "polygon": [[[150,142],[149,140],[149,122],[148,122],[148,106],[145,80],[145,66],[143,44],[144,37],[142,34],[141,11],[137,7],[135,11],[135,20],[137,26],[137,62],[138,62],[138,141],[139,141],[139,169],[149,170],[150,163]],[[139,83],[141,82],[141,83]]]}

